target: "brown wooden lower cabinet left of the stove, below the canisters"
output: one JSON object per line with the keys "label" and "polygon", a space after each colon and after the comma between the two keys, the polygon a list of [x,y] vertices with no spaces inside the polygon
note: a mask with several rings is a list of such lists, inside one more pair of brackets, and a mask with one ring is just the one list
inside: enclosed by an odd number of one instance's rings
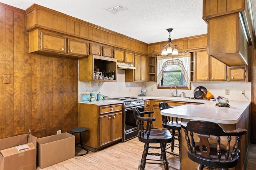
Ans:
{"label": "brown wooden lower cabinet left of the stove, below the canisters", "polygon": [[88,129],[82,133],[82,143],[92,152],[120,141],[122,104],[97,106],[78,103],[78,127]]}

